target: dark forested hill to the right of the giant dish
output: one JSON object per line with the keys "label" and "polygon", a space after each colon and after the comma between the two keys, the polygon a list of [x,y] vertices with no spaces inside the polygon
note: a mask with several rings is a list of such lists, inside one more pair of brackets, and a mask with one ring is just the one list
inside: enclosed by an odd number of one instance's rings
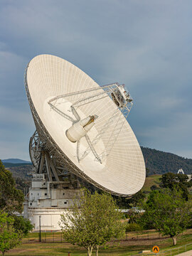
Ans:
{"label": "dark forested hill to the right of the giant dish", "polygon": [[192,174],[192,159],[186,159],[176,154],[166,153],[156,149],[141,147],[144,155],[146,168],[151,174],[165,174],[167,172],[177,173],[183,169],[185,174]]}

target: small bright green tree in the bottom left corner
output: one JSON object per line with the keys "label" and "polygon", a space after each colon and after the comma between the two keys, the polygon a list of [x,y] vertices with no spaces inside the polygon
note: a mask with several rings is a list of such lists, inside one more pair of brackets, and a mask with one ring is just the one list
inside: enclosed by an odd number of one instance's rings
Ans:
{"label": "small bright green tree in the bottom left corner", "polygon": [[8,213],[0,212],[0,250],[4,256],[5,252],[14,248],[21,242],[23,233],[14,229],[14,218]]}

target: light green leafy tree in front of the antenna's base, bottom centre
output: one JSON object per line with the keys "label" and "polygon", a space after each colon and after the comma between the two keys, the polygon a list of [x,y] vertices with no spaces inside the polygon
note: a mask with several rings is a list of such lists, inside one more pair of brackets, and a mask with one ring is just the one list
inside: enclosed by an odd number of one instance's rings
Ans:
{"label": "light green leafy tree in front of the antenna's base, bottom centre", "polygon": [[80,192],[80,200],[74,201],[74,206],[68,213],[61,216],[60,227],[63,237],[73,245],[87,249],[87,255],[92,250],[98,250],[112,238],[121,238],[124,235],[125,225],[120,222],[122,213],[110,194],[99,194],[95,191]]}

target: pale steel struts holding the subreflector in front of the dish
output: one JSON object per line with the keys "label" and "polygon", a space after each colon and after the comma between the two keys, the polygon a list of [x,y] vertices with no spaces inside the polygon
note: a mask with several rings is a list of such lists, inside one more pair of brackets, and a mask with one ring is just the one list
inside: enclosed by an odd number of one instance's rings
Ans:
{"label": "pale steel struts holding the subreflector in front of the dish", "polygon": [[[95,101],[99,101],[104,99],[105,97],[111,97],[112,98],[112,94],[114,95],[114,92],[117,91],[117,88],[119,85],[117,82],[112,83],[110,85],[103,85],[102,87],[93,87],[87,90],[80,90],[78,92],[70,92],[68,94],[65,95],[58,95],[56,97],[53,97],[53,99],[49,100],[48,104],[50,105],[50,107],[55,110],[55,112],[58,112],[58,114],[60,114],[62,117],[65,117],[66,119],[70,120],[72,123],[77,122],[80,120],[80,116],[78,114],[78,107],[82,106],[82,105],[87,105],[90,104],[92,102]],[[91,95],[87,96],[88,92],[92,92]],[[96,92],[96,93],[95,93]],[[71,111],[73,112],[73,115],[75,117],[75,119],[73,119],[72,117],[68,116],[68,114],[60,111],[57,107],[58,104],[58,100],[68,100],[69,98],[78,95],[80,97],[80,100],[74,102],[70,108]],[[114,99],[112,99],[114,100]],[[118,101],[118,97],[117,97],[117,101]],[[79,148],[80,148],[80,141],[77,144],[77,158],[78,161],[80,162],[82,159],[84,159],[88,154],[90,154],[90,152],[92,151],[92,153],[95,156],[95,161],[99,161],[100,163],[102,163],[102,161],[105,160],[105,158],[110,154],[110,151],[112,150],[112,147],[114,145],[114,143],[117,140],[117,137],[119,135],[119,132],[121,131],[123,124],[125,122],[125,120],[127,119],[127,116],[132,108],[132,98],[129,95],[129,100],[127,101],[126,104],[124,104],[123,106],[119,106],[117,107],[117,110],[112,114],[112,116],[107,120],[106,124],[102,127],[102,130],[100,130],[100,132],[97,134],[97,136],[92,139],[90,139],[90,137],[86,134],[85,135],[85,139],[87,140],[87,144],[88,147],[87,149],[85,149],[84,153],[80,156],[79,153]],[[62,103],[60,103],[62,104]],[[120,112],[119,112],[120,110]],[[122,117],[122,114],[123,117]],[[124,118],[125,117],[125,118]],[[105,151],[102,152],[102,154],[98,155],[97,151],[95,150],[95,145],[100,141],[100,139],[102,139],[102,137],[108,132],[108,128],[110,128],[110,126],[112,124],[114,124],[114,120],[117,119],[117,123],[114,126],[114,129],[112,131],[112,133],[110,134],[110,139],[108,140],[107,144],[105,145]]]}

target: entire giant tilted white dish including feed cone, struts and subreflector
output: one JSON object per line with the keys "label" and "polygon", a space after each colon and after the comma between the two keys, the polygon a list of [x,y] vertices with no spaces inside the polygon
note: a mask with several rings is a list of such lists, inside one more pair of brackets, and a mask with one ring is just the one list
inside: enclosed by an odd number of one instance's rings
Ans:
{"label": "entire giant tilted white dish including feed cone, struts and subreflector", "polygon": [[55,183],[70,172],[117,196],[142,188],[144,159],[127,122],[133,103],[124,85],[97,85],[67,60],[38,55],[28,63],[25,86],[36,124],[30,155],[38,173],[46,159],[47,178]]}

